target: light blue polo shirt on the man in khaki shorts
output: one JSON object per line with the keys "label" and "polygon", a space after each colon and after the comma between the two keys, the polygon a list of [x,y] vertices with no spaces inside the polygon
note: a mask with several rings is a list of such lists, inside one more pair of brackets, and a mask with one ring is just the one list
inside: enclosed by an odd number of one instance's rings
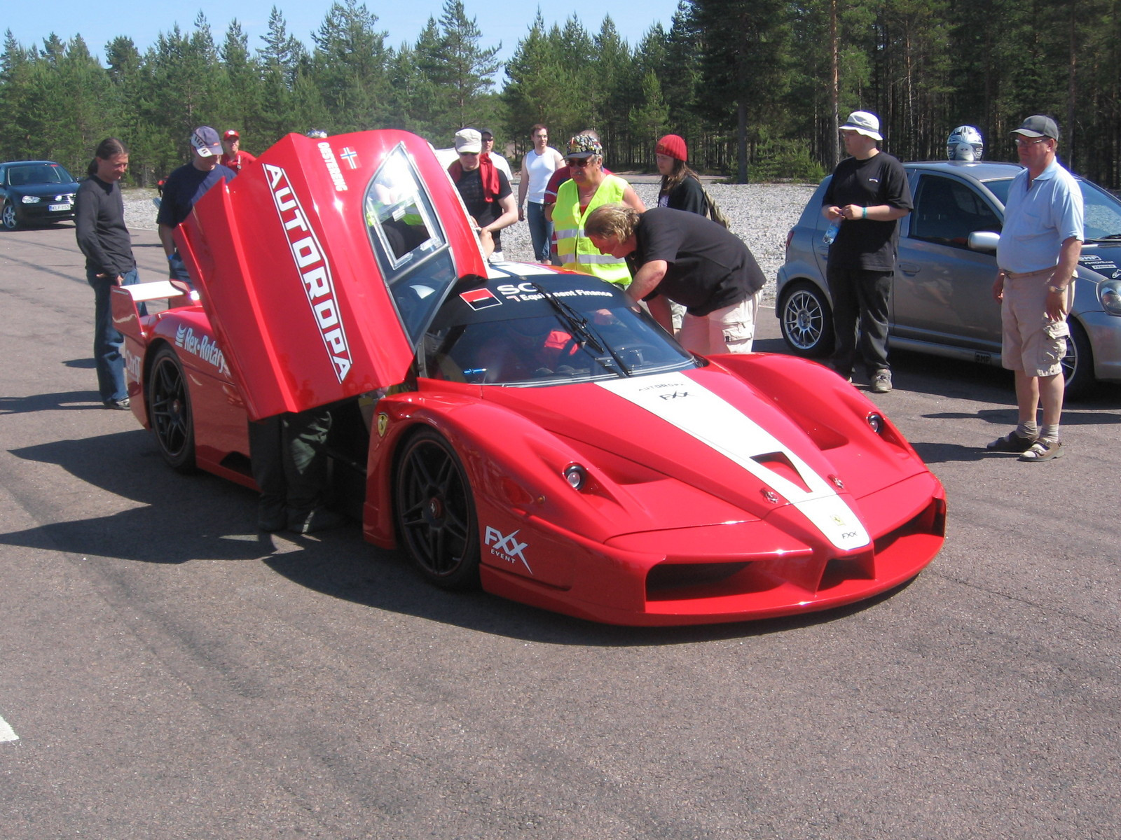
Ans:
{"label": "light blue polo shirt on the man in khaki shorts", "polygon": [[1017,274],[1056,265],[1063,242],[1072,236],[1085,241],[1082,218],[1082,188],[1057,160],[1030,187],[1025,169],[1008,188],[997,264]]}

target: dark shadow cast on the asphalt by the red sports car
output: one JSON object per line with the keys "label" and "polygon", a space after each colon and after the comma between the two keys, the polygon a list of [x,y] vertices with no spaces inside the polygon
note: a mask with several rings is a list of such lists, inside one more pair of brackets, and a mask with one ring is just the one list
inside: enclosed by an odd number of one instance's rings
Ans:
{"label": "dark shadow cast on the asphalt by the red sports car", "polygon": [[43,511],[54,522],[0,534],[0,545],[64,551],[112,576],[121,573],[119,561],[169,566],[198,560],[263,561],[300,586],[372,609],[526,641],[597,646],[689,644],[779,633],[844,618],[893,594],[823,613],[760,622],[668,628],[600,625],[484,592],[432,587],[404,554],[364,542],[356,523],[314,536],[258,532],[256,493],[210,474],[175,473],[141,429],[11,451],[28,461],[56,465],[136,506],[75,520],[73,505],[58,500],[55,510]]}

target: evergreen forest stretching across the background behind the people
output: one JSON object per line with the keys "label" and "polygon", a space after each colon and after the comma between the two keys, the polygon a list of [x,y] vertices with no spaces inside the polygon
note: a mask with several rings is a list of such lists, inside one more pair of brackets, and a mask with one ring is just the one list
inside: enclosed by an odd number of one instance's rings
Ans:
{"label": "evergreen forest stretching across the background behind the people", "polygon": [[941,159],[956,125],[976,125],[985,158],[1015,159],[1009,132],[1032,113],[1063,130],[1073,170],[1118,188],[1121,0],[682,0],[669,29],[638,44],[610,17],[547,27],[538,11],[504,65],[462,0],[446,0],[413,43],[387,44],[378,16],[336,0],[305,44],[274,7],[251,44],[237,20],[200,13],[145,48],[80,34],[0,54],[0,160],[48,158],[84,175],[104,137],[130,149],[129,178],[151,186],[188,158],[195,125],[238,129],[263,151],[287,132],[401,128],[450,146],[488,127],[516,166],[536,122],[550,142],[584,128],[608,166],[651,169],[654,143],[682,134],[691,164],[739,183],[815,180],[839,156],[837,125],[880,115],[883,148]]}

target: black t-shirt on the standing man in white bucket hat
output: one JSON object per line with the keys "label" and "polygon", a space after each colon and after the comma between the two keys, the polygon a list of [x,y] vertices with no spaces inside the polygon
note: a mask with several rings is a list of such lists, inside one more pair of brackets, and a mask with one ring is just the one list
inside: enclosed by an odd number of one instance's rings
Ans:
{"label": "black t-shirt on the standing man in white bucket hat", "polygon": [[[847,204],[859,207],[887,204],[911,209],[915,205],[902,164],[882,151],[867,160],[842,160],[825,188],[822,206],[844,207]],[[899,220],[845,220],[830,245],[830,264],[868,271],[895,271],[898,241]]]}

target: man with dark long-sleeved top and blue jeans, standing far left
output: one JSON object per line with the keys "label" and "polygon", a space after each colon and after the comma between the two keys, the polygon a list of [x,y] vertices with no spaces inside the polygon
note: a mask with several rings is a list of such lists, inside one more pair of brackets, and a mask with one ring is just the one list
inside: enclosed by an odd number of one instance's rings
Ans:
{"label": "man with dark long-sleeved top and blue jeans, standing far left", "polygon": [[93,287],[93,361],[98,390],[106,409],[127,409],[123,338],[113,326],[110,290],[139,281],[132,237],[124,226],[124,203],[118,181],[129,168],[129,152],[117,138],[102,140],[75,199],[74,228],[85,254],[85,279]]}

